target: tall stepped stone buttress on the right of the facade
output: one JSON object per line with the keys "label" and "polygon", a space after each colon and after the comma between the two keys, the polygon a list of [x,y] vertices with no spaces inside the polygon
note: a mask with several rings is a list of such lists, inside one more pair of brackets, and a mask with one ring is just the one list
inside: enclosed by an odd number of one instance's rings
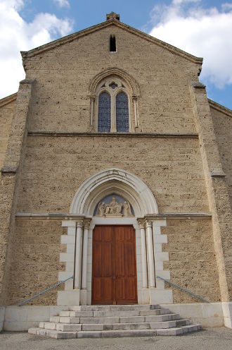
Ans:
{"label": "tall stepped stone buttress on the right of the facade", "polygon": [[232,215],[228,188],[219,157],[219,149],[205,86],[200,83],[193,83],[190,87],[190,92],[195,126],[199,134],[207,195],[212,212],[221,301],[229,302],[231,300],[229,289],[232,283],[231,253],[229,248],[231,246]]}

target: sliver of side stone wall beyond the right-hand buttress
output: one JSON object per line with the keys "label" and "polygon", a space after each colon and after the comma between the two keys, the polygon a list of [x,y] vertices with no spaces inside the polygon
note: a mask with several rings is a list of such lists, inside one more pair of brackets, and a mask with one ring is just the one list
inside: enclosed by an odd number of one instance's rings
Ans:
{"label": "sliver of side stone wall beyond the right-hand buttress", "polygon": [[223,110],[210,108],[214,129],[219,145],[219,154],[223,171],[226,174],[228,194],[232,210],[232,111],[230,115]]}

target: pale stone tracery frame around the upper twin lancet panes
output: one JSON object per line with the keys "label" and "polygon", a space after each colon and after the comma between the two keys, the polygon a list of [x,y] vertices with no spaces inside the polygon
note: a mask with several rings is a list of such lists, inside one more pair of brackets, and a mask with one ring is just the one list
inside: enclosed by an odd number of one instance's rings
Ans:
{"label": "pale stone tracery frame around the upper twin lancet panes", "polygon": [[[112,89],[112,87],[110,87],[112,83],[115,83],[117,85],[115,89]],[[131,132],[132,131],[131,119],[133,116],[131,116],[131,94],[129,93],[129,87],[127,86],[126,83],[124,83],[122,79],[114,76],[101,80],[101,83],[99,83],[98,87],[96,88],[96,103],[95,103],[95,111],[94,111],[94,115],[96,116],[95,118],[96,131],[98,131],[98,99],[102,92],[108,92],[108,94],[110,95],[110,102],[111,102],[110,133],[120,133],[120,131],[117,131],[117,125],[116,125],[116,97],[120,92],[124,92],[127,95],[128,111],[129,111],[129,132]],[[103,131],[98,131],[98,132],[101,133]]]}

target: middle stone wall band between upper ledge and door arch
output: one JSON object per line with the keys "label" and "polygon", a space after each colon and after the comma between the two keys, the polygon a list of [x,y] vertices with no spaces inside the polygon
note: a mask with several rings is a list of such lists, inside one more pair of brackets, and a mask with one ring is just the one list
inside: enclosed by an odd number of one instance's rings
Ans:
{"label": "middle stone wall band between upper ledge and door arch", "polygon": [[208,212],[197,138],[27,138],[18,212],[69,212],[83,181],[110,167],[144,181],[159,212]]}

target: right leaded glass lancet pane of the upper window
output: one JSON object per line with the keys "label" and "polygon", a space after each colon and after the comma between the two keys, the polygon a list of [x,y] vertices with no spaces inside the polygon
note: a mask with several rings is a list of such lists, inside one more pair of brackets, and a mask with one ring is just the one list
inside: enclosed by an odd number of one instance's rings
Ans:
{"label": "right leaded glass lancet pane of the upper window", "polygon": [[129,131],[128,97],[124,92],[116,97],[116,128],[121,133]]}

